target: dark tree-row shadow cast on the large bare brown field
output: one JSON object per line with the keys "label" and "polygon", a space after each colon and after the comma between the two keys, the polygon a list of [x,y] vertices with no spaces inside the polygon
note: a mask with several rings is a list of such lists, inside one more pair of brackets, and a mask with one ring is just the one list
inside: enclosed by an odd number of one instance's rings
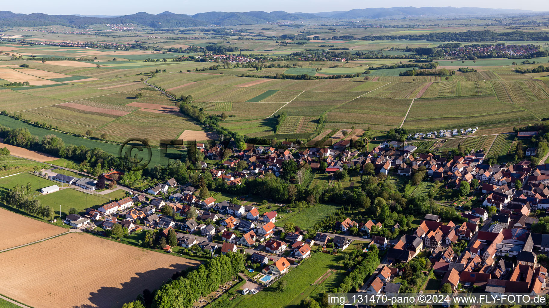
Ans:
{"label": "dark tree-row shadow cast on the large bare brown field", "polygon": [[[142,294],[144,289],[154,290],[159,288],[172,274],[188,268],[189,266],[198,266],[200,261],[187,260],[188,264],[172,264],[169,267],[161,267],[156,270],[135,273],[137,277],[132,277],[130,281],[121,283],[121,288],[102,287],[96,292],[90,292],[88,300],[91,304],[74,305],[73,308],[120,308],[124,303],[134,301],[137,295]],[[153,262],[153,261],[152,261]],[[128,266],[131,266],[128,265]],[[111,277],[119,276],[116,268],[104,270],[100,274],[105,280]],[[96,278],[93,278],[96,279]],[[101,278],[99,278],[101,279]]]}

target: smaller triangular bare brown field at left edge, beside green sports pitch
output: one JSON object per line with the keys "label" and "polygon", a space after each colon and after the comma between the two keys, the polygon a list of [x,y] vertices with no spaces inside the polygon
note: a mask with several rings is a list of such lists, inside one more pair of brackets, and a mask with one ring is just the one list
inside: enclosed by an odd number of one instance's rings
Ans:
{"label": "smaller triangular bare brown field at left edge, beside green sports pitch", "polygon": [[66,230],[0,208],[0,250],[53,237]]}

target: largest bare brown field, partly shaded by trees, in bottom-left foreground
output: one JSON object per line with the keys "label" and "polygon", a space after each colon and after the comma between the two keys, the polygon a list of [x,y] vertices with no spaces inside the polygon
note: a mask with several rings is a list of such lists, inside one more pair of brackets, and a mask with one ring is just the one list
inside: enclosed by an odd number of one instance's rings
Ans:
{"label": "largest bare brown field, partly shaded by trees, in bottom-left foreground", "polygon": [[200,264],[86,233],[2,252],[0,263],[0,294],[41,308],[120,308]]}

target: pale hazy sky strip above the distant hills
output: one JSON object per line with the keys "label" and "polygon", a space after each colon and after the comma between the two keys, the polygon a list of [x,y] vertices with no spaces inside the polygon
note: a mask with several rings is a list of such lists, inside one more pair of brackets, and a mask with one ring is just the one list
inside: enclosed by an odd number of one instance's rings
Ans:
{"label": "pale hazy sky strip above the distant hills", "polygon": [[[196,1],[196,0],[94,0],[91,2],[75,2],[72,0],[26,0],[24,5],[18,1],[2,0],[0,10],[10,10],[14,13],[44,13],[44,14],[81,14],[81,15],[126,15],[137,12],[158,14],[169,10],[176,14],[195,14],[201,12],[248,12],[251,10],[284,10],[289,13],[305,12],[330,12],[335,10],[364,9],[380,7],[379,1],[364,0],[277,0],[277,1]],[[383,2],[388,3],[388,2]],[[524,5],[529,4],[529,5]],[[384,5],[385,6],[385,5]],[[502,9],[530,9],[549,11],[549,1],[535,0],[533,2],[521,2],[516,0],[462,0],[459,2],[441,2],[435,0],[419,0],[413,2],[404,0],[392,0],[388,7],[483,7]]]}

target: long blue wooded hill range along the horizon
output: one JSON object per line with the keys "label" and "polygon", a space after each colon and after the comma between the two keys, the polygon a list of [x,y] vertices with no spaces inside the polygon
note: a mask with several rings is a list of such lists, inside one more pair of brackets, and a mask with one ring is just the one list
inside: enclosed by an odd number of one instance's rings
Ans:
{"label": "long blue wooded hill range along the horizon", "polygon": [[175,14],[163,12],[160,14],[149,14],[139,12],[119,17],[106,15],[47,15],[42,13],[16,14],[9,11],[0,11],[0,26],[49,26],[64,25],[72,27],[84,27],[94,24],[139,24],[155,29],[172,27],[195,27],[195,26],[235,26],[273,23],[283,20],[306,20],[306,19],[377,19],[377,18],[402,18],[421,15],[483,15],[483,14],[509,14],[528,13],[529,10],[513,9],[485,9],[485,8],[435,8],[435,7],[398,7],[398,8],[367,8],[352,9],[348,12],[321,12],[321,13],[287,13],[282,10],[267,12],[207,12],[194,15]]}

